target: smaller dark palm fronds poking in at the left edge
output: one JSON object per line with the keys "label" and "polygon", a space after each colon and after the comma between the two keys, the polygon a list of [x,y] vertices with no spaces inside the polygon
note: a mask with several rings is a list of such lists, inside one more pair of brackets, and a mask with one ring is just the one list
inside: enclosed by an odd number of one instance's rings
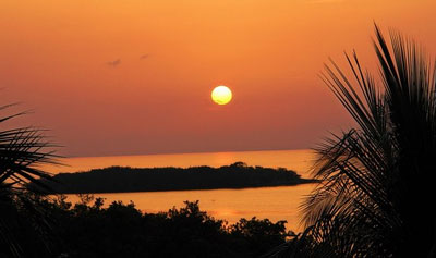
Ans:
{"label": "smaller dark palm fronds poking in at the left edge", "polygon": [[[3,111],[14,105],[0,107]],[[0,118],[0,125],[4,122],[25,114],[15,113]],[[23,250],[16,235],[21,223],[20,212],[25,210],[29,216],[27,220],[34,221],[37,231],[41,231],[47,222],[43,210],[35,206],[28,183],[39,186],[39,191],[49,191],[38,179],[48,179],[48,173],[38,165],[44,163],[58,163],[52,150],[55,145],[48,143],[41,130],[35,127],[15,127],[0,130],[0,256],[21,257]],[[21,211],[20,211],[21,210]],[[43,214],[43,216],[41,216]],[[32,218],[31,218],[32,217]],[[34,239],[28,239],[34,241]]]}

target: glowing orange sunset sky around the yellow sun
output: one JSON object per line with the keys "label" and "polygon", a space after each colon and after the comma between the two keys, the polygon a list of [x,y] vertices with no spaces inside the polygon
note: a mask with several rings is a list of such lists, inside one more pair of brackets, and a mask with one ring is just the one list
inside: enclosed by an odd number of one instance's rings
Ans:
{"label": "glowing orange sunset sky around the yellow sun", "polygon": [[[434,0],[1,0],[0,95],[66,156],[314,147],[348,115],[317,77],[373,21],[436,53]],[[119,61],[118,61],[119,60]],[[109,64],[111,63],[111,64]],[[228,106],[210,101],[228,85]]]}

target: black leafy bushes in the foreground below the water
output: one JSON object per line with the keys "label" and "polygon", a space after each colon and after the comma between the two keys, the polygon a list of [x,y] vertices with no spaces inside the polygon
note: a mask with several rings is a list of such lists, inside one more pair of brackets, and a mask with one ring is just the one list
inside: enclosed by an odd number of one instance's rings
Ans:
{"label": "black leafy bushes in the foreground below the water", "polygon": [[[198,202],[166,212],[142,213],[133,204],[83,195],[72,206],[64,196],[28,197],[37,216],[14,205],[17,224],[11,237],[20,243],[23,257],[259,257],[293,236],[286,221],[241,219],[229,225],[199,210]],[[36,228],[36,221],[40,221]],[[8,246],[0,242],[0,257]],[[5,253],[3,253],[3,251]],[[4,256],[3,256],[4,255]]]}

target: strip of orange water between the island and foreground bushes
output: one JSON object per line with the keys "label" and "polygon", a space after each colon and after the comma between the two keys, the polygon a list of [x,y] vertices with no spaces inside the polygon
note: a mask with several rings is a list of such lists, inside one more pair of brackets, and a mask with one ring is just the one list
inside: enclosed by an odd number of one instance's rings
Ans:
{"label": "strip of orange water between the island and foreground bushes", "polygon": [[[184,200],[199,200],[199,208],[217,219],[229,223],[240,218],[268,218],[271,221],[287,220],[287,228],[300,231],[299,205],[302,197],[311,192],[313,184],[298,186],[261,187],[245,189],[211,189],[211,191],[173,191],[148,193],[116,193],[97,194],[106,202],[131,200],[144,212],[156,213],[171,207],[183,206]],[[78,197],[69,195],[69,200],[75,202]]]}

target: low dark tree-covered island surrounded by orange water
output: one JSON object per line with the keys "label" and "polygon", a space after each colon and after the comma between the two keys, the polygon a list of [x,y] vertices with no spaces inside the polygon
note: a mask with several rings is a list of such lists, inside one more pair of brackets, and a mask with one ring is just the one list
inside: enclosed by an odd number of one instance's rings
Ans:
{"label": "low dark tree-covered island surrounded by orange water", "polygon": [[187,169],[110,167],[60,173],[53,180],[56,182],[43,181],[56,193],[62,194],[243,188],[314,182],[283,168],[247,167],[243,162],[220,168]]}

